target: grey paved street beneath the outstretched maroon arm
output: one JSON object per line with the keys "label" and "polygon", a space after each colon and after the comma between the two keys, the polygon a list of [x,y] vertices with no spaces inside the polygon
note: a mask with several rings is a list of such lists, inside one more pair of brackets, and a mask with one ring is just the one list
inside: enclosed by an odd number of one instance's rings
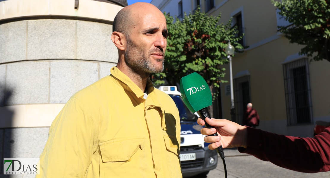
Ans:
{"label": "grey paved street beneath the outstretched maroon arm", "polygon": [[[330,172],[320,172],[315,174],[301,173],[281,168],[270,162],[261,161],[254,156],[242,154],[237,149],[225,149],[225,161],[228,178],[278,178],[278,177],[298,177],[298,178],[324,178],[330,177]],[[313,164],[313,163],[311,163]],[[195,176],[194,178],[201,178]],[[218,157],[216,169],[210,171],[204,178],[224,178],[223,164]]]}

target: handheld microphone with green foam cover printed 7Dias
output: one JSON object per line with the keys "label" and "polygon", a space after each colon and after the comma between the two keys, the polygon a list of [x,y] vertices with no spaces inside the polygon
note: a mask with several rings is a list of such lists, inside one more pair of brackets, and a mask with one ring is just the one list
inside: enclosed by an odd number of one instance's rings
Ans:
{"label": "handheld microphone with green foam cover printed 7Dias", "polygon": [[[201,75],[194,72],[182,77],[180,80],[180,92],[184,104],[191,112],[197,112],[204,121],[206,117],[211,118],[207,107],[212,105],[212,94],[208,84]],[[214,128],[206,121],[205,126],[206,128]],[[210,136],[217,135],[215,132],[215,134]],[[225,155],[222,146],[218,147],[216,151],[224,159]]]}

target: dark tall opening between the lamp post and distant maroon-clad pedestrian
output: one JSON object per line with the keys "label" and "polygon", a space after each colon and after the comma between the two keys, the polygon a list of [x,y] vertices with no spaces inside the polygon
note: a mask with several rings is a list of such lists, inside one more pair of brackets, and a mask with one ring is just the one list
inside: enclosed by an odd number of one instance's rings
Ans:
{"label": "dark tall opening between the lamp post and distant maroon-clad pedestrian", "polygon": [[234,79],[234,101],[236,109],[236,121],[243,124],[243,115],[247,110],[247,105],[251,102],[250,97],[250,76]]}

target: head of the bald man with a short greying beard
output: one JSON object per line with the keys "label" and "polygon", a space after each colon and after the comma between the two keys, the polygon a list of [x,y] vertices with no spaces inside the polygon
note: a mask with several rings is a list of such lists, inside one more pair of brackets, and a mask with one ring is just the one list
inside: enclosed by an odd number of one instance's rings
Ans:
{"label": "head of the bald man with a short greying beard", "polygon": [[146,80],[150,73],[161,72],[167,36],[165,16],[154,5],[126,6],[116,15],[111,34],[118,49],[117,68],[127,76],[143,76]]}

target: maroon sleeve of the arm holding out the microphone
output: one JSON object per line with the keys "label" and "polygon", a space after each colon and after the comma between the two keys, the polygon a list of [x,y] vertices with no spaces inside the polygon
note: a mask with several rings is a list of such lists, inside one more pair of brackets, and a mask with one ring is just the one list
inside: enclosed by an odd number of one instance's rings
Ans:
{"label": "maroon sleeve of the arm holding out the microphone", "polygon": [[299,172],[330,170],[330,127],[314,138],[277,135],[251,127],[247,129],[247,148],[238,147],[241,153]]}

